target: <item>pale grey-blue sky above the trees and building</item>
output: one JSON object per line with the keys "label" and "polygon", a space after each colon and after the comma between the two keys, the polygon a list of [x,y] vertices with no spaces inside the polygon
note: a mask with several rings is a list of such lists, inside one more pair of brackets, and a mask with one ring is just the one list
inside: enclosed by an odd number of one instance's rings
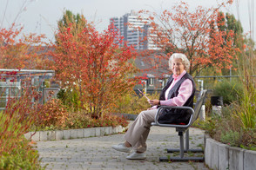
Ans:
{"label": "pale grey-blue sky above the trees and building", "polygon": [[[191,10],[199,5],[216,7],[221,2],[183,1],[189,4]],[[163,10],[171,10],[179,2],[180,0],[0,0],[0,28],[9,28],[11,23],[16,23],[24,26],[25,34],[45,34],[50,41],[54,41],[57,21],[62,18],[64,10],[83,14],[88,21],[95,23],[98,31],[102,31],[107,28],[111,17],[124,16],[131,10],[151,10],[159,14]],[[256,31],[256,13],[253,14],[253,7],[253,0],[234,0],[232,6],[222,10],[239,19],[246,33],[250,30]],[[256,41],[255,34],[253,40]]]}

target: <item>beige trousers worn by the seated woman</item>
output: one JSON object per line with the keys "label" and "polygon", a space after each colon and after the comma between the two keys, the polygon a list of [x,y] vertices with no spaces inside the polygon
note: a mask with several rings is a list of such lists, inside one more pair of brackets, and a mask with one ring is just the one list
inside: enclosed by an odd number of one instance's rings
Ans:
{"label": "beige trousers worn by the seated woman", "polygon": [[125,133],[125,141],[128,141],[135,151],[146,151],[145,141],[150,132],[151,123],[155,120],[157,111],[158,109],[142,111]]}

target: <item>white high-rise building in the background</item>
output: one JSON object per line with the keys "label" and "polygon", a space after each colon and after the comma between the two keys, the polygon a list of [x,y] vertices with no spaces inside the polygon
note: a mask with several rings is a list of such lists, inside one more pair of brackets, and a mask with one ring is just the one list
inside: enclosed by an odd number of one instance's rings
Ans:
{"label": "white high-rise building in the background", "polygon": [[[148,22],[147,17],[139,16],[134,10],[124,16],[110,19],[110,23],[118,29],[120,36],[124,36],[127,45],[132,45],[134,49],[158,49],[152,42],[151,27]],[[145,38],[146,41],[143,41]]]}

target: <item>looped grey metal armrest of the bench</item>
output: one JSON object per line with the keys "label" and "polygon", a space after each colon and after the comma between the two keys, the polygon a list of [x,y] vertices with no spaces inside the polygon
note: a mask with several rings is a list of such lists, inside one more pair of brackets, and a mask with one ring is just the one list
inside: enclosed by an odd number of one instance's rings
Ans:
{"label": "looped grey metal armrest of the bench", "polygon": [[[189,122],[188,124],[186,125],[175,125],[175,124],[161,124],[158,122],[158,117],[159,117],[159,114],[161,112],[162,109],[166,109],[166,108],[177,108],[177,109],[185,109],[185,110],[190,110],[190,112],[192,113],[190,119],[189,119]],[[170,106],[160,106],[158,108],[158,112],[157,114],[155,115],[155,122],[152,123],[152,125],[158,125],[160,127],[190,127],[191,124],[192,124],[192,118],[194,116],[194,110],[191,108],[191,107],[170,107]]]}

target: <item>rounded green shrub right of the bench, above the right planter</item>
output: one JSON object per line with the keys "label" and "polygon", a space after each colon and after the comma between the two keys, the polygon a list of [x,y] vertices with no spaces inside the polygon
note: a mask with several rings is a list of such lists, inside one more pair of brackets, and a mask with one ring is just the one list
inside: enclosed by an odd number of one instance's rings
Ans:
{"label": "rounded green shrub right of the bench, above the right planter", "polygon": [[243,93],[242,84],[239,81],[229,82],[223,80],[213,88],[213,95],[222,96],[224,104],[231,104],[233,101],[239,101]]}

